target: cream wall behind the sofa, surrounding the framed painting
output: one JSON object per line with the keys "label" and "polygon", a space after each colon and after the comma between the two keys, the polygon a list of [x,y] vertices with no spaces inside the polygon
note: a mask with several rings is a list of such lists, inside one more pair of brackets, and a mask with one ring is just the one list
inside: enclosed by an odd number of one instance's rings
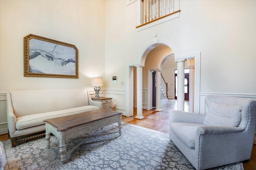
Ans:
{"label": "cream wall behind the sofa, surrounding the framed painting", "polygon": [[[92,89],[90,77],[105,78],[104,13],[101,0],[0,1],[0,133],[7,127],[6,91]],[[24,77],[23,38],[28,34],[76,45],[79,79]]]}

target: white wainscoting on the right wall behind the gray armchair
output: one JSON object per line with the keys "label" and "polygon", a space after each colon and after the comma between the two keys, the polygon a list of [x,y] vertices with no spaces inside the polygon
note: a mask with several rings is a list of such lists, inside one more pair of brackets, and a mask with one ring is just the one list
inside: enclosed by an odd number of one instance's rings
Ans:
{"label": "white wainscoting on the right wall behind the gray armchair", "polygon": [[[200,114],[207,112],[207,106],[205,104],[205,97],[208,95],[219,95],[219,96],[232,96],[232,97],[246,97],[256,100],[256,94],[230,94],[230,93],[200,93]],[[256,137],[254,137],[254,144],[256,144]]]}

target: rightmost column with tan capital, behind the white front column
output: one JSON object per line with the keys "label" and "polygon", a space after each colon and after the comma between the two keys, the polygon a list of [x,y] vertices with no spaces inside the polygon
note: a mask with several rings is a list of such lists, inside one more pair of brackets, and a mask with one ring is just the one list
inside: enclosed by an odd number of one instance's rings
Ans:
{"label": "rightmost column with tan capital, behind the white front column", "polygon": [[194,59],[188,60],[189,68],[189,112],[194,113],[194,94],[195,94],[195,61]]}

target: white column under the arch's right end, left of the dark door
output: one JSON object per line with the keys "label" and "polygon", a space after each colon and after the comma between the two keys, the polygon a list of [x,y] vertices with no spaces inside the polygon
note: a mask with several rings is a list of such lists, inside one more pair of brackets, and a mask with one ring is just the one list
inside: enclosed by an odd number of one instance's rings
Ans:
{"label": "white column under the arch's right end, left of the dark door", "polygon": [[184,111],[184,63],[185,60],[176,61],[177,62],[177,110]]}

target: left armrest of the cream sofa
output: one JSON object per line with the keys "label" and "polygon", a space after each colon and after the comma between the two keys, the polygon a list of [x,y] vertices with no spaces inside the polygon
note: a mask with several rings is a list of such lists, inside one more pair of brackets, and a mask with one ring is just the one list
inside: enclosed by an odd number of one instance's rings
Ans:
{"label": "left armrest of the cream sofa", "polygon": [[6,92],[7,125],[10,136],[16,131],[16,116],[12,107],[12,98],[10,92]]}

